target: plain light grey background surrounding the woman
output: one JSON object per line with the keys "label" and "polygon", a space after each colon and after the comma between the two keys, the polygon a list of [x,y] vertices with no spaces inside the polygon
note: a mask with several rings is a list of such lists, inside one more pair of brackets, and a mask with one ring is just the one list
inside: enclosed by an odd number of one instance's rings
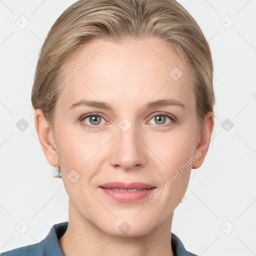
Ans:
{"label": "plain light grey background surrounding the woman", "polygon": [[[256,0],[178,1],[209,41],[217,118],[172,232],[198,255],[255,255]],[[68,196],[43,155],[30,93],[42,42],[73,2],[0,0],[0,252],[39,242],[68,219]]]}

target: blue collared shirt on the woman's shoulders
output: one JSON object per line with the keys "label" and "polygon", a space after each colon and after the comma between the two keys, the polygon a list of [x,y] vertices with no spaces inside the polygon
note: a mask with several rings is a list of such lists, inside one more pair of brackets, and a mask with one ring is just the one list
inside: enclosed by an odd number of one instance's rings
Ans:
{"label": "blue collared shirt on the woman's shoulders", "polygon": [[[47,236],[38,243],[26,245],[0,253],[0,256],[64,256],[58,244],[66,231],[68,221],[54,224]],[[175,256],[197,256],[187,251],[180,239],[171,233],[171,248]]]}

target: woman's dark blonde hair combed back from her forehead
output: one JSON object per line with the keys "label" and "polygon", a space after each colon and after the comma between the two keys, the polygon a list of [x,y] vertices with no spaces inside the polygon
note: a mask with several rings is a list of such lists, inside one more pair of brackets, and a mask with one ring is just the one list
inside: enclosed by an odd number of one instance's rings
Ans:
{"label": "woman's dark blonde hair combed back from her forehead", "polygon": [[[182,57],[193,84],[196,123],[201,129],[205,114],[213,111],[213,63],[210,48],[200,27],[175,0],[79,0],[57,18],[41,47],[31,101],[41,108],[54,129],[61,68],[66,60],[96,38],[116,42],[128,38],[157,37]],[[59,169],[60,172],[60,169]],[[59,175],[57,175],[59,176]]]}

